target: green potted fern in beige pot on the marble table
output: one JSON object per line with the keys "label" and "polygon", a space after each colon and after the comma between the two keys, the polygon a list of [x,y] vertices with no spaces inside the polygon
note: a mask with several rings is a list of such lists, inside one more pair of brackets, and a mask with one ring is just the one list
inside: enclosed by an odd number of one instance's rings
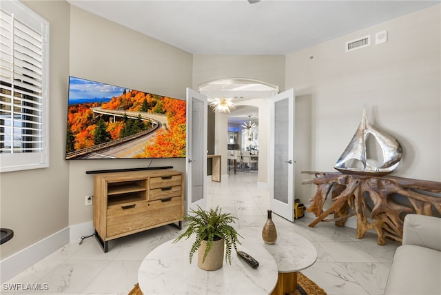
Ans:
{"label": "green potted fern in beige pot on the marble table", "polygon": [[224,250],[225,261],[232,263],[232,247],[237,252],[237,243],[240,244],[238,241],[240,234],[232,226],[232,223],[236,223],[235,216],[222,213],[219,207],[204,211],[198,206],[197,210],[192,210],[184,219],[188,222],[187,230],[173,243],[196,234],[196,240],[189,252],[190,263],[196,250],[198,250],[198,266],[202,269],[216,270],[222,267]]}

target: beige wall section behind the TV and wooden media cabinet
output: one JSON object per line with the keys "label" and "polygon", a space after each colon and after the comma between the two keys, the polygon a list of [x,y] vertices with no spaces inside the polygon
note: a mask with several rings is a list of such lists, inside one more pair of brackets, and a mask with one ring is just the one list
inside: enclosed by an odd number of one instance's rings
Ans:
{"label": "beige wall section behind the TV and wooden media cabinet", "polygon": [[[72,6],[70,75],[185,99],[185,88],[192,86],[192,54]],[[93,194],[93,176],[87,170],[148,165],[150,160],[141,159],[70,161],[69,224],[92,221],[92,206],[85,207],[84,201]],[[184,159],[151,163],[169,165],[185,171]]]}

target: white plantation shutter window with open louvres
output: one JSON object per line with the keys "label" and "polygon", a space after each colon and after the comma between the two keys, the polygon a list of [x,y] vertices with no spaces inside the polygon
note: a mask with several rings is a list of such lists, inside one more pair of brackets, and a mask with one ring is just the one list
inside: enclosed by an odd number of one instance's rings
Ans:
{"label": "white plantation shutter window with open louvres", "polygon": [[49,23],[0,3],[0,172],[48,167]]}

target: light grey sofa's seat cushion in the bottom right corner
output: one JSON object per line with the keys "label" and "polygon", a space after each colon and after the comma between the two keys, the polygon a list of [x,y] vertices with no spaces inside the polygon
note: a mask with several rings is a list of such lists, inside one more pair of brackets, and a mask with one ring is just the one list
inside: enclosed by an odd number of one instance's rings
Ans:
{"label": "light grey sofa's seat cushion in the bottom right corner", "polygon": [[398,247],[384,294],[441,294],[441,252],[416,245]]}

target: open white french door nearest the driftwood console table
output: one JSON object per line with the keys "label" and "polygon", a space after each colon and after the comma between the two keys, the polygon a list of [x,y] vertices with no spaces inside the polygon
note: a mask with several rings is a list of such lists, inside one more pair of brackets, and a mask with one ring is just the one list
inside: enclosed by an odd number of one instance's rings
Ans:
{"label": "open white french door nearest the driftwood console table", "polygon": [[269,170],[271,210],[294,221],[294,90],[271,98]]}

